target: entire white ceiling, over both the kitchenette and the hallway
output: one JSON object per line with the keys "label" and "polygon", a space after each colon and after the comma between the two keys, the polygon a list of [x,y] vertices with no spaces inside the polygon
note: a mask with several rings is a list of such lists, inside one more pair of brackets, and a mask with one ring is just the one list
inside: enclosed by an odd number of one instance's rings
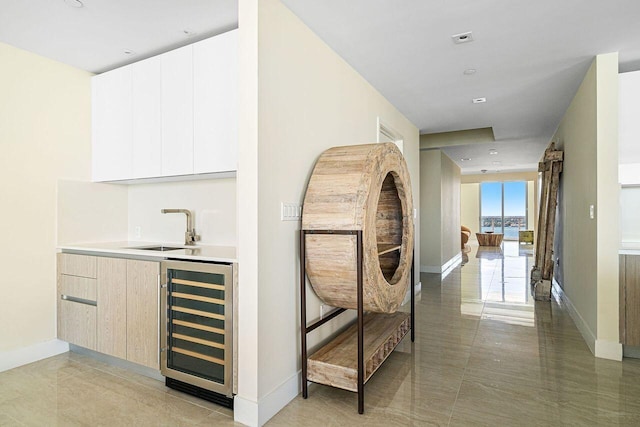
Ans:
{"label": "entire white ceiling, over both the kitchenette and the hallway", "polygon": [[[238,0],[82,1],[0,0],[0,41],[102,72],[238,20]],[[493,127],[495,143],[444,148],[463,173],[535,169],[595,55],[640,69],[638,0],[282,1],[422,133]]]}

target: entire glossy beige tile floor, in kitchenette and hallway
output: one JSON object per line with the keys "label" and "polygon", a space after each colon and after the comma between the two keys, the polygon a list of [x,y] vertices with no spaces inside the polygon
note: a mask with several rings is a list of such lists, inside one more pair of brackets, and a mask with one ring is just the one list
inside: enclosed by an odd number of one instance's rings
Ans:
{"label": "entire glossy beige tile floor, in kitchenette and hallway", "polygon": [[[268,426],[640,426],[640,360],[596,359],[565,308],[534,305],[531,250],[471,248],[422,274],[416,341],[354,393],[312,385]],[[220,406],[67,353],[0,373],[0,426],[234,425]],[[237,424],[235,424],[237,425]]]}

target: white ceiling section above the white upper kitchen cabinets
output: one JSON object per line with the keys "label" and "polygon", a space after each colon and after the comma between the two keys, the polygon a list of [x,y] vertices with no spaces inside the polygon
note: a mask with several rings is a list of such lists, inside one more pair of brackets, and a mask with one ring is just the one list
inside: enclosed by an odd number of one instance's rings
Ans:
{"label": "white ceiling section above the white upper kitchen cabinets", "polygon": [[81,1],[0,0],[0,41],[100,73],[238,26],[238,0]]}

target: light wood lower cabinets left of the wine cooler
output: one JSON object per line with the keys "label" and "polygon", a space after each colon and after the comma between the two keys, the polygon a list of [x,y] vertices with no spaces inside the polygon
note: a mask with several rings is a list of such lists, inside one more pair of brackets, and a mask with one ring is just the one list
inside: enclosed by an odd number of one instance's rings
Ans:
{"label": "light wood lower cabinets left of the wine cooler", "polygon": [[159,273],[155,261],[58,254],[58,338],[159,369]]}

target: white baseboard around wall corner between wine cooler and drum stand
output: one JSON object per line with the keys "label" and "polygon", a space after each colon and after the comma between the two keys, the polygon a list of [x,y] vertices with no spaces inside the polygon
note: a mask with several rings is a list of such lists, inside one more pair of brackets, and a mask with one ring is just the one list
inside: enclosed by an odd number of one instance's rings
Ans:
{"label": "white baseboard around wall corner between wine cooler and drum stand", "polygon": [[236,396],[233,403],[234,420],[250,427],[265,425],[300,393],[301,375],[300,371],[291,375],[258,403]]}

